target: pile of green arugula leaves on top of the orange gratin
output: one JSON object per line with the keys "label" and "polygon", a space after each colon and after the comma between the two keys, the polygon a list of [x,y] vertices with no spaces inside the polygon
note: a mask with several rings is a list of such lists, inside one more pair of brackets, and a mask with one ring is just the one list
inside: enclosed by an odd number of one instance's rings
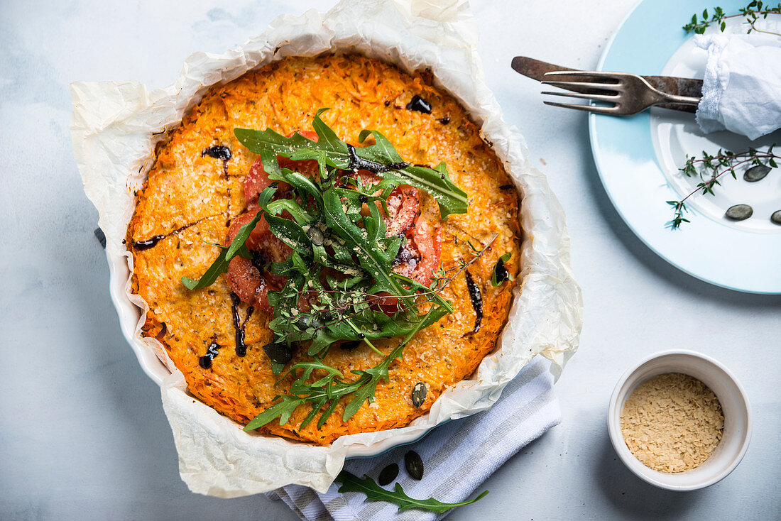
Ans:
{"label": "pile of green arugula leaves on top of the orange gratin", "polygon": [[[435,169],[409,165],[376,130],[363,130],[358,136],[360,144],[373,136],[374,145],[356,148],[341,141],[320,119],[324,110],[317,111],[312,123],[317,141],[298,133],[284,137],[270,129],[234,130],[242,144],[260,155],[269,179],[284,181],[292,192],[287,198],[273,200],[276,185],[267,187],[259,196],[260,210],[255,218],[241,227],[230,246],[218,245],[221,251],[201,279],[182,278],[190,289],[206,287],[226,272],[236,255],[251,258],[245,242],[261,218],[266,219],[271,233],[293,250],[284,262],[270,262],[263,268],[287,277],[280,291],[268,293],[274,309],[269,327],[274,332],[273,343],[284,343],[291,349],[306,344],[311,360],[294,364],[281,376],[280,381],[294,379],[290,394],[276,397],[279,401],[244,430],[255,430],[274,419],[284,425],[301,405],[310,406],[301,428],[318,415],[319,427],[342,398],[348,400],[342,419],[349,419],[363,403],[373,401],[377,384],[388,380],[391,362],[401,357],[412,337],[453,311],[451,303],[440,296],[441,287],[429,287],[393,272],[394,259],[406,239],[386,236],[380,209],[387,214],[391,191],[409,184],[430,193],[437,200],[440,215],[446,218],[466,212],[465,192],[450,180],[444,163]],[[295,161],[315,159],[319,176],[280,168],[277,156]],[[357,170],[369,170],[380,180],[362,180],[355,175]],[[283,212],[289,215],[283,216]],[[306,312],[299,309],[302,298],[309,303]],[[390,315],[382,309],[384,298],[398,302]],[[392,337],[404,340],[387,355],[372,343]],[[366,343],[383,355],[383,360],[345,376],[323,362],[337,341]],[[282,373],[284,367],[272,363],[275,374]]]}

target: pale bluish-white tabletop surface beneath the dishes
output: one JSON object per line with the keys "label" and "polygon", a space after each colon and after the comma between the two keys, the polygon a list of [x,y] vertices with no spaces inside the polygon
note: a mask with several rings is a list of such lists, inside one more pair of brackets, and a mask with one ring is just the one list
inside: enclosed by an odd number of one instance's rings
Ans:
{"label": "pale bluish-white tabletop surface beneath the dishes", "polygon": [[[781,515],[781,297],[712,287],[658,259],[608,202],[586,117],[545,107],[540,86],[509,68],[514,55],[593,68],[633,2],[473,5],[488,84],[567,211],[586,312],[581,349],[557,384],[564,422],[487,480],[487,498],[448,519]],[[160,87],[188,53],[223,51],[278,14],[321,3],[0,2],[0,519],[295,519],[262,496],[206,498],[180,481],[158,388],[109,301],[97,213],[73,164],[68,84]],[[703,491],[644,484],[608,441],[613,384],[663,348],[719,359],[754,408],[744,462]]]}

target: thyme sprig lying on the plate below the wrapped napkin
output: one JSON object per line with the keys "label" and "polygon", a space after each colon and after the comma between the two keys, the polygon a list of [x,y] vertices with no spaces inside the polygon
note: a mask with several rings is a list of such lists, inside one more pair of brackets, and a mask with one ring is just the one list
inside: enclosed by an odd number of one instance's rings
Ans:
{"label": "thyme sprig lying on the plate below the wrapped napkin", "polygon": [[736,170],[741,167],[746,169],[754,166],[778,168],[776,159],[781,159],[781,155],[773,153],[775,146],[770,145],[767,152],[760,152],[755,148],[749,148],[745,152],[729,152],[719,148],[719,152],[716,152],[715,155],[704,151],[701,157],[686,154],[686,164],[679,170],[685,173],[686,177],[699,177],[701,182],[697,184],[697,188],[680,201],[667,202],[668,205],[672,206],[673,211],[672,220],[668,223],[669,227],[675,230],[683,223],[690,223],[690,220],[683,216],[683,212],[689,211],[686,208],[686,200],[698,192],[715,195],[714,188],[721,186],[719,177],[724,174],[730,173],[732,177],[737,178]]}

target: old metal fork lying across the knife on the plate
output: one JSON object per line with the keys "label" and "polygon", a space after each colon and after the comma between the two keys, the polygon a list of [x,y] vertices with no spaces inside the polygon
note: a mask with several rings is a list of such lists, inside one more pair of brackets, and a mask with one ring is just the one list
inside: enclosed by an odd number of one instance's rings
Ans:
{"label": "old metal fork lying across the knife on the plate", "polygon": [[[700,98],[678,96],[658,91],[637,74],[601,73],[597,71],[557,70],[545,73],[545,77],[572,77],[577,81],[543,81],[543,84],[562,87],[578,92],[543,92],[552,96],[569,96],[583,98],[594,102],[611,103],[604,105],[579,105],[575,103],[545,102],[545,105],[564,107],[565,109],[586,110],[597,114],[612,114],[613,116],[631,116],[645,109],[662,103],[679,103],[682,105],[697,105]],[[589,81],[594,79],[596,81]],[[601,80],[601,83],[597,83]]]}

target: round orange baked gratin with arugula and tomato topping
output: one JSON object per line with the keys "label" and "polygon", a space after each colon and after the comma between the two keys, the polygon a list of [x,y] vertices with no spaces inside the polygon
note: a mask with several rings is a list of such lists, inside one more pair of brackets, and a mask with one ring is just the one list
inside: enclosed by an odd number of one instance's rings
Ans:
{"label": "round orange baked gratin with arugula and tomato topping", "polygon": [[430,73],[281,59],[212,87],[159,145],[127,229],[143,333],[245,430],[406,426],[494,350],[518,212]]}

